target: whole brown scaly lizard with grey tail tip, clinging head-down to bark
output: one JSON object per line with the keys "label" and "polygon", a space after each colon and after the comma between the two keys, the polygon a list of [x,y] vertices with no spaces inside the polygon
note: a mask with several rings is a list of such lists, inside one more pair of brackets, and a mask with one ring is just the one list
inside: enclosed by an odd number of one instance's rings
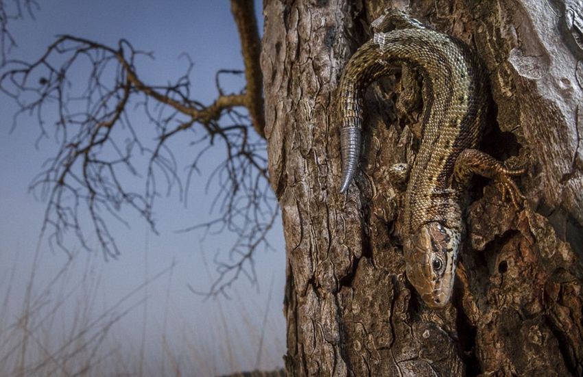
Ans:
{"label": "whole brown scaly lizard with grey tail tip, clinging head-down to bark", "polygon": [[420,147],[412,166],[396,164],[393,180],[407,179],[398,233],[407,279],[431,309],[451,298],[464,221],[461,199],[473,174],[500,183],[519,209],[525,199],[506,168],[477,148],[488,104],[486,72],[464,42],[425,27],[401,10],[388,9],[371,24],[374,36],[348,60],[337,89],[342,181],[348,190],[361,153],[364,90],[403,65],[422,79]]}

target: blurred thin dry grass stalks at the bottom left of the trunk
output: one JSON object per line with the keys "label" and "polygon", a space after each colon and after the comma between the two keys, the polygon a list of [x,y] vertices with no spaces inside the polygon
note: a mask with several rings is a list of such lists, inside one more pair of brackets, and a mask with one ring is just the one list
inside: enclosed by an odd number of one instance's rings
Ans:
{"label": "blurred thin dry grass stalks at the bottom left of the trunk", "polygon": [[[28,276],[22,276],[18,261],[0,252],[0,377],[217,376],[222,365],[238,372],[233,376],[283,376],[240,372],[241,365],[260,365],[261,355],[275,358],[275,363],[281,360],[283,339],[261,350],[265,328],[276,326],[265,304],[256,304],[257,312],[248,313],[237,295],[241,310],[227,313],[215,302],[209,315],[219,317],[222,326],[202,329],[174,308],[176,298],[169,289],[174,264],[152,276],[146,273],[141,285],[128,288],[120,300],[106,305],[103,271],[95,267],[95,256],[75,253],[49,278],[39,274],[42,259],[37,252]],[[147,289],[154,282],[167,284],[165,302],[148,302]],[[165,305],[165,315],[161,324],[152,326],[145,318],[155,304]],[[124,320],[139,313],[143,313],[143,337],[128,341]],[[244,326],[233,328],[232,315],[242,317]],[[260,327],[253,321],[257,317],[262,318]],[[170,329],[177,326],[179,335]],[[159,335],[154,352],[145,341],[145,333],[152,330]],[[204,331],[210,331],[215,344],[198,340]],[[259,344],[263,352],[249,344]]]}

